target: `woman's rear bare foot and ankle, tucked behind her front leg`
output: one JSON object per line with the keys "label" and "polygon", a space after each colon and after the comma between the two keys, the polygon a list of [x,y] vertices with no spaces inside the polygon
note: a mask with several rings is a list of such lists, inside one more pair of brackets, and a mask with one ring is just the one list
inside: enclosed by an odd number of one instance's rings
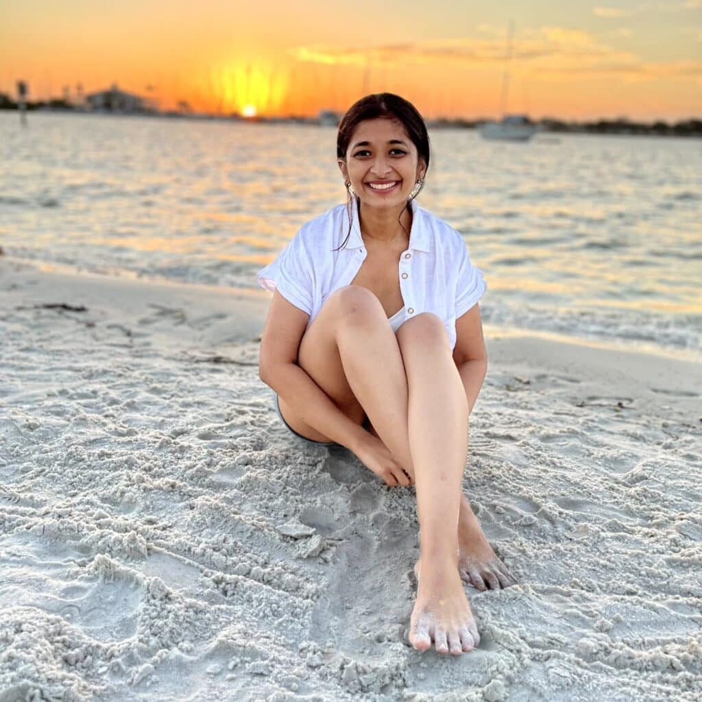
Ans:
{"label": "woman's rear bare foot and ankle, tucked behind her front leg", "polygon": [[499,590],[517,584],[515,576],[492,550],[465,496],[458,518],[458,573],[478,590]]}

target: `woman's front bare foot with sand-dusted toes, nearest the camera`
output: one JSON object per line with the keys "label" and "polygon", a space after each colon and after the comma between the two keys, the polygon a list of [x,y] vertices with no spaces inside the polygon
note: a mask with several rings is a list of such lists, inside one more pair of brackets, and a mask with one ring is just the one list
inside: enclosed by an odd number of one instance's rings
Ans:
{"label": "woman's front bare foot with sand-dusted toes, nearest the camera", "polygon": [[460,656],[463,651],[472,651],[480,635],[456,571],[456,560],[426,559],[425,576],[420,581],[421,563],[420,556],[414,567],[418,588],[409,620],[409,642],[419,651],[426,651],[433,640],[439,654]]}

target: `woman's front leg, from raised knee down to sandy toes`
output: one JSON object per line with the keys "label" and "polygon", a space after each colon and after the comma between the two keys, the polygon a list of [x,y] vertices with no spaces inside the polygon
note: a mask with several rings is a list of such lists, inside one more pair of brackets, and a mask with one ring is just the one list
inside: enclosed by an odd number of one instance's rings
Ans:
{"label": "woman's front leg, from raised knee down to sandy toes", "polygon": [[458,575],[468,401],[438,317],[409,319],[398,329],[397,340],[409,386],[407,427],[419,517],[419,587],[410,642],[424,650],[434,640],[440,653],[460,654],[479,642]]}

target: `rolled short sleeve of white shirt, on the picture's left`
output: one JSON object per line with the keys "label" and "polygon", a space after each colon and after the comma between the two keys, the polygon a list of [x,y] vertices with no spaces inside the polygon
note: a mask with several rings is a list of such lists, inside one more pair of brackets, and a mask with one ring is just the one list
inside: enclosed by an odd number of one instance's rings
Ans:
{"label": "rolled short sleeve of white shirt, on the picture's left", "polygon": [[265,290],[277,290],[299,310],[312,314],[312,270],[299,232],[256,279]]}

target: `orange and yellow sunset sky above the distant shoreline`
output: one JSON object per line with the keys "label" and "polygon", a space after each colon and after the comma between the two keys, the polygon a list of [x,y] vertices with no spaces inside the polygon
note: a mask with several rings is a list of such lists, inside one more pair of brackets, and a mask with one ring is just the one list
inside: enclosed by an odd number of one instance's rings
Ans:
{"label": "orange and yellow sunset sky above the distant shoreline", "polygon": [[0,92],[112,83],[195,110],[344,111],[390,91],[425,117],[702,115],[702,0],[2,0]]}

